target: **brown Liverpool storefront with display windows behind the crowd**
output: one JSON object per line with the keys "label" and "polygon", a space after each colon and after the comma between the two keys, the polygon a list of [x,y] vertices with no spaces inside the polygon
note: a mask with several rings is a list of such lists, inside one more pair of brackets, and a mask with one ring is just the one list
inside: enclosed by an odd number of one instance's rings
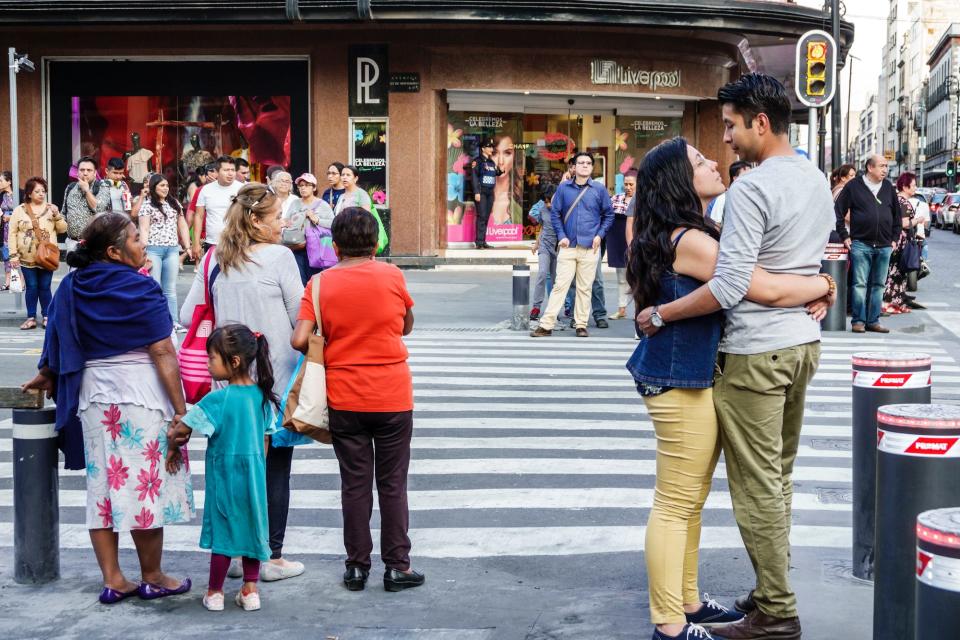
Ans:
{"label": "brown Liverpool storefront with display windows behind the crowd", "polygon": [[[329,163],[352,163],[389,210],[392,254],[442,256],[475,240],[470,164],[492,137],[503,174],[487,239],[522,248],[540,185],[559,180],[574,149],[594,156],[611,193],[676,135],[721,167],[734,159],[715,96],[752,64],[742,34],[610,18],[10,29],[6,41],[38,67],[18,77],[21,182],[48,177],[58,201],[80,155],[178,184],[221,153],[247,159],[254,179],[282,164],[322,183]],[[6,104],[4,87],[4,167]]]}

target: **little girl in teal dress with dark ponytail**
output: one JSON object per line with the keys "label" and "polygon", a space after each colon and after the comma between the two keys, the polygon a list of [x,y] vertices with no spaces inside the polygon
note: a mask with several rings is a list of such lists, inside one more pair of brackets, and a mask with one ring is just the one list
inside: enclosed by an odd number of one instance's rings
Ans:
{"label": "little girl in teal dress with dark ponytail", "polygon": [[[243,587],[237,606],[260,608],[260,562],[270,558],[267,522],[266,437],[274,433],[273,369],[267,340],[241,324],[207,339],[207,367],[227,386],[211,391],[172,429],[167,466],[180,464],[178,444],[192,431],[209,438],[206,493],[200,546],[210,549],[210,582],[203,606],[222,611],[223,583],[230,559],[243,558]],[[256,365],[257,379],[250,375]]]}

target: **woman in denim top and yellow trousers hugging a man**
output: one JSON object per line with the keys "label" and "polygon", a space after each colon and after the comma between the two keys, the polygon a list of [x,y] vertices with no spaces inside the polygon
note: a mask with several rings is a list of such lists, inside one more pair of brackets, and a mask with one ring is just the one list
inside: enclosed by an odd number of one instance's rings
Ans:
{"label": "woman in denim top and yellow trousers hugging a man", "polygon": [[[683,138],[646,155],[637,176],[634,238],[627,278],[637,309],[691,293],[713,275],[719,231],[703,212],[724,192],[717,163]],[[758,268],[747,298],[795,307],[825,296],[820,276],[769,274]],[[821,306],[810,307],[817,315]],[[656,320],[654,320],[656,323]],[[654,640],[709,638],[704,626],[743,614],[701,601],[697,585],[701,511],[720,454],[713,372],[723,330],[716,312],[663,325],[643,337],[627,363],[657,436],[657,480],[645,556]]]}

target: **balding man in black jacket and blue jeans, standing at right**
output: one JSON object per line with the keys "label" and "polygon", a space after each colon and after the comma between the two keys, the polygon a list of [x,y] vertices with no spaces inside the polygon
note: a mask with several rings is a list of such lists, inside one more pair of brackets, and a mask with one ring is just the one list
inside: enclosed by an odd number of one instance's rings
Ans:
{"label": "balding man in black jacket and blue jeans, standing at right", "polygon": [[[880,324],[883,287],[890,266],[890,253],[900,236],[900,204],[887,178],[883,156],[867,160],[866,173],[843,188],[834,205],[837,234],[850,250],[853,269],[851,292],[854,333],[889,333]],[[843,222],[850,212],[850,231]]]}

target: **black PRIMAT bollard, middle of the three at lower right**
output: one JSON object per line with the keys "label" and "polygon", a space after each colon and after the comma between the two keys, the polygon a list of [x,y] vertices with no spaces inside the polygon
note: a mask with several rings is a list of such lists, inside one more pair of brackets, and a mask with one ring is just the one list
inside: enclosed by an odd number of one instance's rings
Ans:
{"label": "black PRIMAT bollard, middle of the three at lower right", "polygon": [[917,516],[957,504],[958,440],[960,406],[897,404],[877,411],[874,640],[914,637]]}

